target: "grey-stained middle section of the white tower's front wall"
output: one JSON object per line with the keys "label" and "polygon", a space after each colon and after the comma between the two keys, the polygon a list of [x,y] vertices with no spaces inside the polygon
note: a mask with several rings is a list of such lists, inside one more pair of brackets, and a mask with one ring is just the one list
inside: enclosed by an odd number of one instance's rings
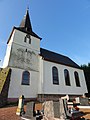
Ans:
{"label": "grey-stained middle section of the white tower's front wall", "polygon": [[[13,44],[9,66],[39,71],[38,54],[36,54],[33,50],[29,48],[26,52],[26,49],[27,48],[24,46]],[[21,51],[23,51],[23,53]],[[28,51],[30,52],[30,55],[28,55]]]}

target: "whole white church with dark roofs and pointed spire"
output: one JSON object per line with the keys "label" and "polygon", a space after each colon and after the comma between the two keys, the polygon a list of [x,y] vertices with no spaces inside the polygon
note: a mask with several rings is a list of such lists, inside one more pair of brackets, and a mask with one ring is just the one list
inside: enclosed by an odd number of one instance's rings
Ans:
{"label": "whole white church with dark roofs and pointed spire", "polygon": [[[7,100],[17,101],[21,95],[26,100],[70,98],[87,93],[83,70],[69,57],[40,47],[42,38],[32,30],[29,11],[19,27],[13,27],[7,41],[0,82],[0,94],[7,85]],[[9,73],[9,77],[7,79]],[[3,92],[2,92],[3,91]]]}

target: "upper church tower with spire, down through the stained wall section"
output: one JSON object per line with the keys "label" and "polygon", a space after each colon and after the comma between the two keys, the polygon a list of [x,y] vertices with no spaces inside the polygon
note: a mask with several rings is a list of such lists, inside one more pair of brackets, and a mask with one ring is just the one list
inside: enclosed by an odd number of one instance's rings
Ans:
{"label": "upper church tower with spire, down through the stained wall section", "polygon": [[13,27],[7,42],[3,67],[13,67],[38,71],[41,38],[33,32],[29,10],[19,27]]}

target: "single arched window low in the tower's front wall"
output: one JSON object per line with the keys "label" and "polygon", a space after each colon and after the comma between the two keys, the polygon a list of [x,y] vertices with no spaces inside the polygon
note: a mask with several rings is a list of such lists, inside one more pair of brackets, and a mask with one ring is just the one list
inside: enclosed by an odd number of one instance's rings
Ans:
{"label": "single arched window low in the tower's front wall", "polygon": [[30,73],[28,71],[24,71],[22,74],[22,85],[30,84]]}

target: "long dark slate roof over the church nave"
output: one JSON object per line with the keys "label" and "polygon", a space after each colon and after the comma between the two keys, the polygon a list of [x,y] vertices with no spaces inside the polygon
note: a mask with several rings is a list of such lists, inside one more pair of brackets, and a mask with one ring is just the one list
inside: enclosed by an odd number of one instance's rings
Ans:
{"label": "long dark slate roof over the church nave", "polygon": [[70,67],[75,67],[79,68],[80,66],[77,65],[74,61],[72,61],[69,57],[40,48],[40,55],[43,57],[43,59],[50,61],[50,62],[55,62],[58,64],[63,64],[67,65]]}

